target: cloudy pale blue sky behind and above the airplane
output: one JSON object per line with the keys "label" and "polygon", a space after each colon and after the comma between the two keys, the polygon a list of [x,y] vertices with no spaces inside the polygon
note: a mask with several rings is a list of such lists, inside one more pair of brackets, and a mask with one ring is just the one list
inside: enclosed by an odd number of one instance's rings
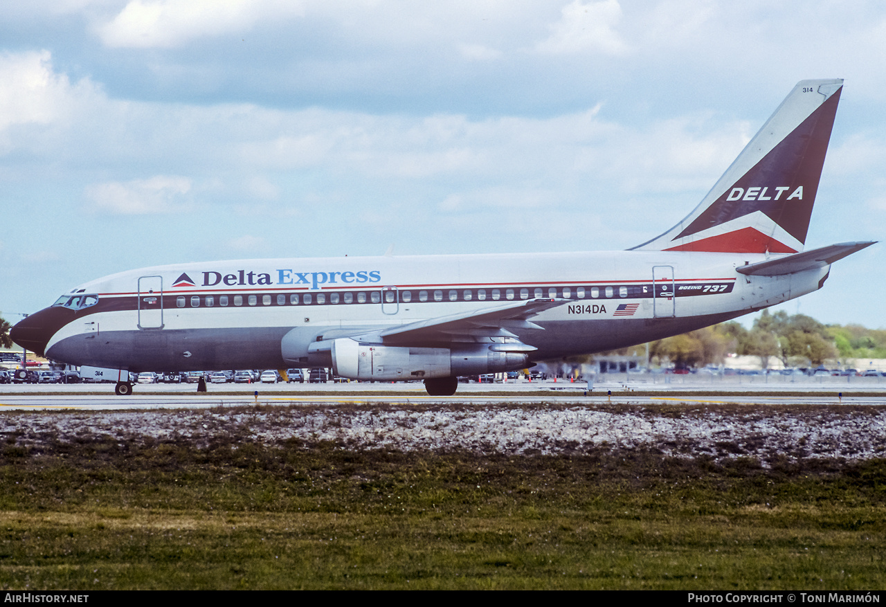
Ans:
{"label": "cloudy pale blue sky behind and above the airplane", "polygon": [[[185,261],[625,249],[844,78],[807,247],[886,226],[886,6],[6,0],[0,310]],[[784,304],[886,327],[886,244]]]}

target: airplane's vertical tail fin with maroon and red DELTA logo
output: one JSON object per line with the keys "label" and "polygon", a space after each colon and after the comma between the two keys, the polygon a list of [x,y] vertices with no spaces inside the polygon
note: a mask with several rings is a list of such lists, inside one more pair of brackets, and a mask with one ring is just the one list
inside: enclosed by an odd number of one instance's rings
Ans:
{"label": "airplane's vertical tail fin with maroon and red DELTA logo", "polygon": [[843,80],[804,80],[699,206],[645,251],[803,250]]}

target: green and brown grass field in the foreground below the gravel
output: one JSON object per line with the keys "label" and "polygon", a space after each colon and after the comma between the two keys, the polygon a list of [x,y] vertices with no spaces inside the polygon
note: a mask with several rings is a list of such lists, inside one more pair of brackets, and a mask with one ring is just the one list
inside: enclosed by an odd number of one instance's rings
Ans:
{"label": "green and brown grass field in the foreground below the gravel", "polygon": [[4,588],[886,588],[884,460],[17,439]]}

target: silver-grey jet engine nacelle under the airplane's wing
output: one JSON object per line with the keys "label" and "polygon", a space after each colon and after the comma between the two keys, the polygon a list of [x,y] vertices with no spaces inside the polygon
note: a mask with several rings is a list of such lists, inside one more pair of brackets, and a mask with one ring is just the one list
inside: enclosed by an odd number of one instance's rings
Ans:
{"label": "silver-grey jet engine nacelle under the airplane's wing", "polygon": [[[466,344],[455,348],[363,344],[332,341],[332,369],[339,377],[396,381],[479,375],[523,369],[524,352],[501,352],[500,344]],[[534,348],[532,348],[534,349]]]}

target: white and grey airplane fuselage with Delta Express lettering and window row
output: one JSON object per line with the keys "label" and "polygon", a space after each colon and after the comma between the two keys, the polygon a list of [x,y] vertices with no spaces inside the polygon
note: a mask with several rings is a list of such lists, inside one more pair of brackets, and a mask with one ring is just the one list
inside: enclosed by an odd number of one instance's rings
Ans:
{"label": "white and grey airplane fuselage with Delta Express lettering and window row", "polygon": [[[598,252],[246,260],[143,268],[82,284],[46,356],[122,370],[324,366],[318,341],[519,300],[556,299],[496,338],[470,326],[409,346],[518,339],[529,360],[630,346],[820,288],[829,267],[744,276],[759,253]],[[62,301],[62,300],[59,300]],[[47,308],[49,312],[64,306]],[[470,320],[467,322],[470,325]],[[365,341],[365,339],[364,339]]]}

